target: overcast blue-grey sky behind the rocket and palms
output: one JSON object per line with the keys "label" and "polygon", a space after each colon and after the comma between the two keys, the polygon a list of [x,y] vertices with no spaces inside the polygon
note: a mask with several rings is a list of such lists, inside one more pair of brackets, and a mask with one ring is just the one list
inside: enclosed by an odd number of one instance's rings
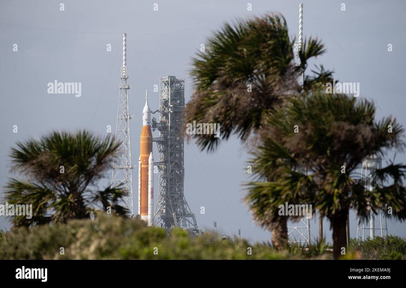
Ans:
{"label": "overcast blue-grey sky behind the rocket and palms", "polygon": [[[65,11],[60,11],[60,2],[65,4]],[[345,11],[341,11],[342,2]],[[158,11],[153,11],[154,3],[158,3]],[[247,3],[252,4],[252,11],[247,11]],[[393,115],[406,126],[404,1],[302,3],[304,37],[320,37],[327,48],[315,63],[334,69],[339,81],[359,82],[360,97],[374,100],[377,118]],[[9,175],[10,148],[19,140],[38,138],[54,129],[86,128],[106,135],[106,126],[111,125],[115,131],[121,33],[127,33],[128,83],[133,85],[130,113],[138,115],[131,122],[132,162],[136,164],[145,89],[155,110],[159,95],[152,89],[160,77],[185,78],[187,102],[193,90],[190,59],[212,31],[237,17],[275,11],[285,16],[289,34],[297,36],[298,4],[270,0],[0,0],[0,185]],[[17,44],[17,52],[13,44]],[[111,52],[106,51],[108,44]],[[393,45],[392,52],[388,52],[388,44]],[[82,96],[48,94],[47,84],[55,80],[82,83]],[[18,133],[13,133],[13,125],[18,126]],[[154,149],[157,157],[155,145]],[[387,159],[392,158],[390,153]],[[236,234],[240,228],[242,237],[270,240],[270,232],[255,225],[242,202],[241,183],[249,180],[246,159],[246,148],[236,139],[223,143],[210,155],[192,143],[185,144],[186,199],[200,228],[211,229],[215,220],[219,231]],[[397,154],[396,160],[406,163],[404,154]],[[133,170],[134,199],[136,173]],[[110,177],[108,173],[103,185],[108,185]],[[134,211],[136,205],[134,201]],[[200,214],[201,206],[205,214]],[[313,217],[313,239],[318,235],[316,221]],[[331,241],[329,223],[324,225]],[[3,227],[10,225],[0,217]],[[350,229],[355,237],[354,213],[350,214]],[[391,234],[406,236],[405,223],[388,220],[388,229]]]}

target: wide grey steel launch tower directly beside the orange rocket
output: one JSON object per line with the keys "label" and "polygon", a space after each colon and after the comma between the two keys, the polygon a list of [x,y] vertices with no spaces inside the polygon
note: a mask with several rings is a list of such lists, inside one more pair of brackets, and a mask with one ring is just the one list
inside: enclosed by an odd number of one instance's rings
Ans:
{"label": "wide grey steel launch tower directly beside the orange rocket", "polygon": [[[184,195],[184,129],[185,81],[175,76],[160,79],[159,122],[152,118],[152,130],[158,129],[159,137],[153,138],[159,152],[159,195],[154,219],[165,229],[181,227],[197,230],[196,217],[190,211]],[[194,232],[196,233],[196,232]]]}

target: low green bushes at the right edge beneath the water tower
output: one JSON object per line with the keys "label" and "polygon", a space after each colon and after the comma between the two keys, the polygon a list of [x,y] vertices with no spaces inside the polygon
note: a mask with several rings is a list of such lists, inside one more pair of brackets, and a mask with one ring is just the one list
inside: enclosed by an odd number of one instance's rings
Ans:
{"label": "low green bushes at the right edge beneath the water tower", "polygon": [[358,253],[361,259],[405,260],[406,239],[392,235],[364,241],[353,238],[350,251]]}

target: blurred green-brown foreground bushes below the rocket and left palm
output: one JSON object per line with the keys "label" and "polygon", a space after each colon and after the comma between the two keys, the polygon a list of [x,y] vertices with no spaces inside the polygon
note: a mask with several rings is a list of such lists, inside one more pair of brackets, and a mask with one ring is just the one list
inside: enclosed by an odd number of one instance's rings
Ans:
{"label": "blurred green-brown foreground bushes below the rocket and left palm", "polygon": [[[252,254],[247,253],[251,247]],[[61,249],[63,248],[63,249]],[[62,254],[63,251],[63,254]],[[155,252],[155,253],[154,253]],[[315,255],[312,253],[311,255]],[[171,236],[139,220],[98,216],[67,224],[15,228],[4,235],[0,259],[302,259],[298,249],[277,251],[246,240],[192,240],[186,231]],[[330,254],[315,255],[330,258]]]}

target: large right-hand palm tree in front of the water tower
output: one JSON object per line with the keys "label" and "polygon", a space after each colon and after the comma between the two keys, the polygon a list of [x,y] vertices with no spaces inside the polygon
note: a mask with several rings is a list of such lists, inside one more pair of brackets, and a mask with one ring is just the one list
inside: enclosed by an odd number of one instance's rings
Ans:
{"label": "large right-hand palm tree in front of the water tower", "polygon": [[[393,184],[371,192],[364,189],[356,173],[369,155],[384,155],[388,149],[404,146],[400,124],[391,117],[377,122],[375,110],[367,100],[316,92],[304,100],[293,99],[289,107],[274,111],[268,117],[269,128],[263,131],[263,143],[252,159],[255,174],[272,175],[272,180],[247,183],[246,201],[251,209],[259,211],[259,220],[261,215],[276,217],[278,205],[285,201],[315,205],[330,220],[337,259],[341,248],[346,247],[349,209],[367,217],[371,210],[391,206],[393,216],[405,219],[406,191],[402,179],[406,166],[392,163],[378,170],[375,177],[380,183],[392,180]],[[308,175],[294,171],[301,165],[307,167]],[[268,201],[266,205],[264,199]]]}

